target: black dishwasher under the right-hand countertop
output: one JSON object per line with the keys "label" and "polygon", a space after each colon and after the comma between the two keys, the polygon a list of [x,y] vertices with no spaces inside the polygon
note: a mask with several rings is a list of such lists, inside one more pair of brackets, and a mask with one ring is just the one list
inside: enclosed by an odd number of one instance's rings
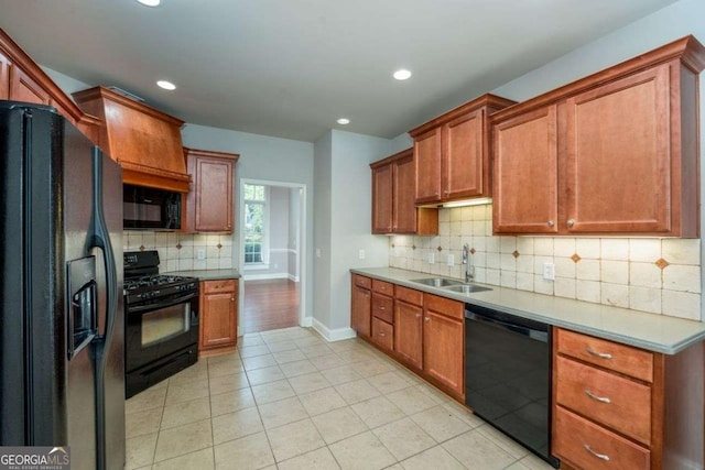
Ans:
{"label": "black dishwasher under the right-hand countertop", "polygon": [[551,327],[465,305],[465,403],[553,467]]}

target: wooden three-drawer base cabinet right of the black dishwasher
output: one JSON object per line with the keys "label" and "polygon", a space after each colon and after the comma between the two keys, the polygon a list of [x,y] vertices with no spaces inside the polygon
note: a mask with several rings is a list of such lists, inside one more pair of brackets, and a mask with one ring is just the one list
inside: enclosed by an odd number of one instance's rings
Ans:
{"label": "wooden three-drawer base cabinet right of the black dishwasher", "polygon": [[702,342],[671,356],[561,328],[553,341],[562,468],[704,468]]}

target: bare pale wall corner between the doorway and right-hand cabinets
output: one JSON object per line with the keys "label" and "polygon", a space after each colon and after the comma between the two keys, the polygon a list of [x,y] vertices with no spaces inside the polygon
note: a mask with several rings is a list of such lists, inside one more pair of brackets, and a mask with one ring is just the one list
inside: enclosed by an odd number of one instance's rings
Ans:
{"label": "bare pale wall corner between the doorway and right-hand cabinets", "polygon": [[[393,153],[392,141],[333,130],[316,142],[316,313],[330,339],[350,336],[350,267],[386,266],[387,237],[371,234],[369,163]],[[323,195],[328,197],[324,197]],[[365,259],[359,259],[359,251]],[[325,328],[325,329],[324,329]]]}

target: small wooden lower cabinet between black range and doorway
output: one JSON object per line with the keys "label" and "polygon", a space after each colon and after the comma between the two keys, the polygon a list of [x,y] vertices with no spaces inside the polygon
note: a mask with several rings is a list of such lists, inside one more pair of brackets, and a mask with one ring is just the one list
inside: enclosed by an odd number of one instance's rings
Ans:
{"label": "small wooden lower cabinet between black range and doorway", "polygon": [[232,351],[238,340],[238,280],[200,283],[199,356]]}

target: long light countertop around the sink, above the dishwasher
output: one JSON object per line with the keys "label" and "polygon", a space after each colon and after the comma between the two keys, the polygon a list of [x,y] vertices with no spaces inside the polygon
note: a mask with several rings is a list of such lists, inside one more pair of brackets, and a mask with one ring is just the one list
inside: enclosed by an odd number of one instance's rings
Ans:
{"label": "long light countertop around the sink, above the dishwasher", "polygon": [[477,284],[491,291],[463,294],[412,281],[440,276],[395,267],[350,272],[665,354],[675,354],[705,339],[705,323],[701,321],[495,285]]}

